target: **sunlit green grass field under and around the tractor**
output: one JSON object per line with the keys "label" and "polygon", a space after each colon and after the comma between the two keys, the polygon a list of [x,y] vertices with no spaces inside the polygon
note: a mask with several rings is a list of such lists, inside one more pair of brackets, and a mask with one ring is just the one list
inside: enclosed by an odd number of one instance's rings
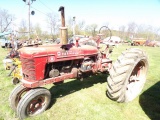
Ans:
{"label": "sunlit green grass field under and around the tractor", "polygon": [[[113,61],[131,46],[114,48]],[[158,120],[160,119],[160,48],[141,47],[147,52],[149,70],[147,82],[139,97],[129,103],[117,103],[106,97],[106,74],[86,78],[83,82],[68,80],[64,84],[47,85],[52,93],[48,110],[27,120]],[[9,107],[8,97],[13,88],[9,71],[2,60],[7,50],[0,48],[0,120],[18,120]]]}

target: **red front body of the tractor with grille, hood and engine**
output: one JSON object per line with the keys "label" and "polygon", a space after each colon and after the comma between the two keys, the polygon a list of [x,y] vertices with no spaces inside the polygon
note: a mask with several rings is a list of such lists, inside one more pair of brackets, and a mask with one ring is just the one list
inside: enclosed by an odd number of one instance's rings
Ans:
{"label": "red front body of the tractor with grille, hood and engine", "polygon": [[96,47],[69,44],[64,49],[61,46],[42,45],[20,49],[24,86],[55,83],[98,70],[99,51]]}

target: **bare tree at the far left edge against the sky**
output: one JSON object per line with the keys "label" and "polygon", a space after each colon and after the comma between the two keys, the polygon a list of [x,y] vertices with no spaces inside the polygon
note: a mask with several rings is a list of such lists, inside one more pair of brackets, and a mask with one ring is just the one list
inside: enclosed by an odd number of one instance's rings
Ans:
{"label": "bare tree at the far left edge against the sky", "polygon": [[7,31],[13,19],[13,15],[9,14],[7,10],[0,9],[0,32]]}

